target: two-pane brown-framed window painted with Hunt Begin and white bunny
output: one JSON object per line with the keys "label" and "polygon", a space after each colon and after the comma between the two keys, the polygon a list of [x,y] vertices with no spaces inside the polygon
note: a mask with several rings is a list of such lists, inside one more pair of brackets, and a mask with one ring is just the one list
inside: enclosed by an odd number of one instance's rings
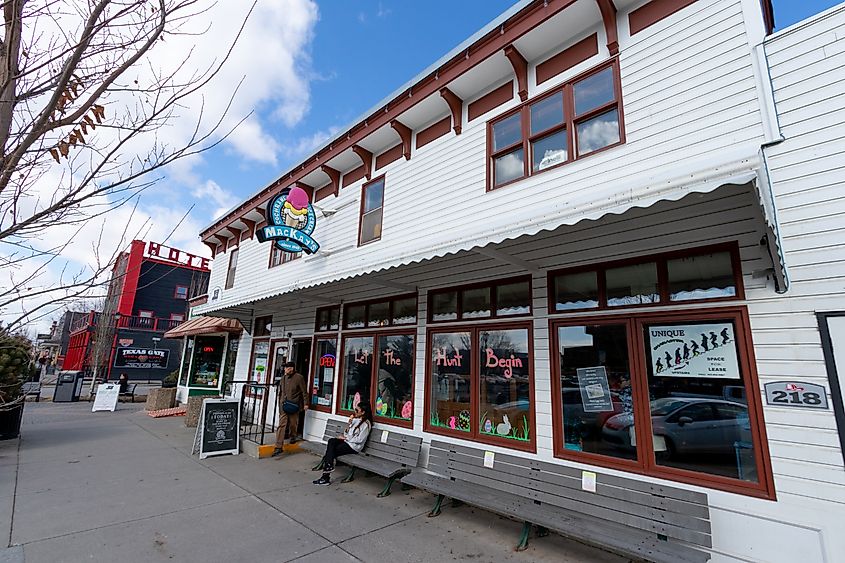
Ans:
{"label": "two-pane brown-framed window painted with Hunt Begin and white bunny", "polygon": [[428,333],[425,430],[535,451],[530,323]]}

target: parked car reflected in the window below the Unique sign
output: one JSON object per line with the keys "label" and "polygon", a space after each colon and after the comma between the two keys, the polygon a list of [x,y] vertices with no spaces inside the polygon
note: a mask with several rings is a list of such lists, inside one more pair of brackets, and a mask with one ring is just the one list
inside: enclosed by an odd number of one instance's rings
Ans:
{"label": "parked car reflected in the window below the Unique sign", "polygon": [[[633,415],[621,413],[607,419],[602,437],[608,443],[633,449]],[[748,439],[748,407],[719,399],[664,397],[651,402],[651,425],[665,441],[664,454],[733,453],[735,444]],[[662,444],[655,441],[655,448]]]}

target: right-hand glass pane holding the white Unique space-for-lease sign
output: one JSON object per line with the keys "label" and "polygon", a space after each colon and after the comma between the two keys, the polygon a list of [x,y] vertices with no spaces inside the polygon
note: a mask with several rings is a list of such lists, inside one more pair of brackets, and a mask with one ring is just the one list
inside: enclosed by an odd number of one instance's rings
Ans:
{"label": "right-hand glass pane holding the white Unique space-for-lease sign", "polygon": [[643,330],[657,464],[756,482],[733,321]]}

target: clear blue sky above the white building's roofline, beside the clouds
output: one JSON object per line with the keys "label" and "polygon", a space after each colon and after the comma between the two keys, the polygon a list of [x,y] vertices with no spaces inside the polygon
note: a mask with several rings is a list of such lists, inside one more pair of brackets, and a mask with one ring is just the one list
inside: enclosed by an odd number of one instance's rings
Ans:
{"label": "clear blue sky above the white building's roofline, beside the clouds", "polygon": [[[267,129],[279,143],[277,160],[251,162],[224,145],[196,172],[233,196],[225,203],[248,197],[512,4],[509,0],[317,2],[319,19],[306,49],[308,68],[303,69],[308,75],[309,109],[292,126]],[[777,28],[835,4],[775,0]],[[256,107],[259,116],[272,110],[272,102]],[[202,226],[213,218],[211,207],[208,200],[199,202],[195,217]]]}

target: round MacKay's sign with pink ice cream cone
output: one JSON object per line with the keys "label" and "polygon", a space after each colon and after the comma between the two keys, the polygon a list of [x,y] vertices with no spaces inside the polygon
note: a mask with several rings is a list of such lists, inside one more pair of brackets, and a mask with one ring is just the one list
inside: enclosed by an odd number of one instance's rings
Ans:
{"label": "round MacKay's sign with pink ice cream cone", "polygon": [[317,225],[317,215],[302,188],[285,188],[267,204],[266,227],[256,232],[259,242],[273,243],[287,252],[314,254],[320,249],[311,233]]}

